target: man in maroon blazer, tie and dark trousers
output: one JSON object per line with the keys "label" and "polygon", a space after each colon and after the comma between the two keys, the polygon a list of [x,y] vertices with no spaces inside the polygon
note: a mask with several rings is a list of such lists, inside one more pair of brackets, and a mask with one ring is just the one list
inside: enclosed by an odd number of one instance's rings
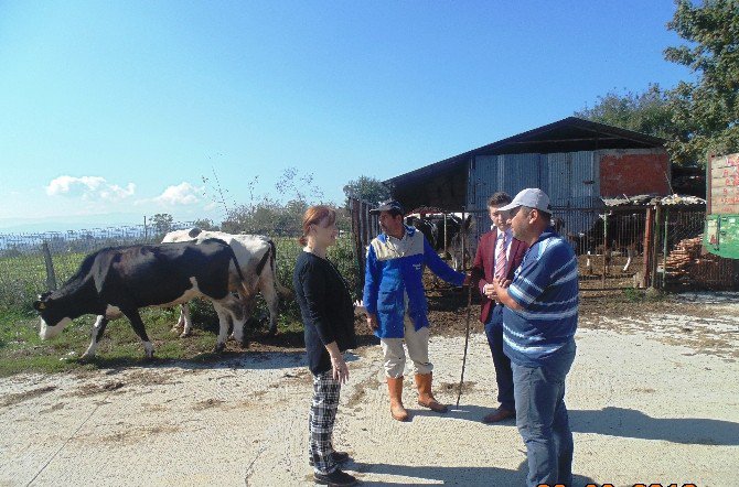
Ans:
{"label": "man in maroon blazer, tie and dark trousers", "polygon": [[521,266],[528,249],[528,245],[513,238],[507,214],[499,212],[499,208],[511,201],[511,196],[503,192],[495,193],[488,199],[488,210],[493,226],[491,231],[480,237],[472,268],[473,275],[480,277],[478,288],[484,300],[480,321],[485,324],[485,335],[495,366],[497,401],[501,403],[497,410],[482,419],[485,423],[495,423],[516,415],[511,359],[503,354],[503,304],[497,301],[493,290],[495,278],[505,275],[506,280],[513,280],[513,273]]}

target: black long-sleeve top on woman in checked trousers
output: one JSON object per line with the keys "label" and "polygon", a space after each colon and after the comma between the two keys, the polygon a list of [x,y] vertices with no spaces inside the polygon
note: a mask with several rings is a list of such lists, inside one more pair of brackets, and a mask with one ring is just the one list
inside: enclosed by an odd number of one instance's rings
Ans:
{"label": "black long-sleeve top on woman in checked trousers", "polygon": [[306,335],[308,367],[314,375],[331,370],[325,346],[336,342],[340,351],[356,347],[354,305],[346,283],[326,259],[300,252],[292,274]]}

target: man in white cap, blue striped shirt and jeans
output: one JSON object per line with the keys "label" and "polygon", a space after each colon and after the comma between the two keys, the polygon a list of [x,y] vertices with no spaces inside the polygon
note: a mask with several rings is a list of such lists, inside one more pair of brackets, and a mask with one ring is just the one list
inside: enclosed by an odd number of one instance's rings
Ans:
{"label": "man in white cap, blue striped shirt and jeans", "polygon": [[549,197],[542,190],[524,190],[499,210],[510,212],[513,236],[529,245],[513,281],[494,282],[505,305],[503,351],[513,369],[516,426],[528,459],[527,485],[572,485],[565,379],[576,349],[577,258],[551,227]]}

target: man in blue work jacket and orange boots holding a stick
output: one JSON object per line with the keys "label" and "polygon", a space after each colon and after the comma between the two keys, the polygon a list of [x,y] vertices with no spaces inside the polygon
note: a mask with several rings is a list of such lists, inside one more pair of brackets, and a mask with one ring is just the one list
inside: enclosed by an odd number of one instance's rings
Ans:
{"label": "man in blue work jacket and orange boots holding a stick", "polygon": [[447,412],[447,407],[431,393],[433,365],[428,358],[424,268],[428,266],[439,278],[456,285],[469,283],[469,278],[447,266],[424,234],[404,225],[404,210],[398,202],[384,202],[371,212],[379,214],[383,232],[372,240],[367,250],[363,302],[367,324],[383,347],[390,414],[397,421],[408,420],[408,411],[403,407],[404,340],[416,378],[418,403],[436,412]]}

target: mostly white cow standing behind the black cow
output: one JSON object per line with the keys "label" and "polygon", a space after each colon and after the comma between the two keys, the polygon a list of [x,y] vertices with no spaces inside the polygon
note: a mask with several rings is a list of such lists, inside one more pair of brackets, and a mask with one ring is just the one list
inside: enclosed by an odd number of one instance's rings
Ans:
{"label": "mostly white cow standing behind the black cow", "polygon": [[[186,230],[170,231],[162,239],[162,244],[192,241],[200,244],[204,240],[217,238],[225,241],[234,250],[240,272],[246,282],[246,289],[240,292],[242,301],[244,303],[247,320],[251,316],[256,304],[256,294],[261,292],[267,307],[269,309],[269,334],[277,333],[277,315],[279,305],[279,294],[289,296],[290,291],[282,286],[277,280],[277,251],[275,244],[269,237],[263,235],[232,235],[224,231],[208,231],[200,228],[191,228]],[[186,304],[182,304],[180,311],[180,320],[174,325],[178,329],[182,327],[182,335],[188,336],[192,329],[192,321],[190,318],[190,309]]]}

